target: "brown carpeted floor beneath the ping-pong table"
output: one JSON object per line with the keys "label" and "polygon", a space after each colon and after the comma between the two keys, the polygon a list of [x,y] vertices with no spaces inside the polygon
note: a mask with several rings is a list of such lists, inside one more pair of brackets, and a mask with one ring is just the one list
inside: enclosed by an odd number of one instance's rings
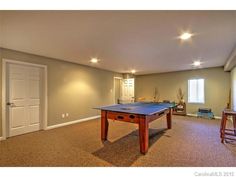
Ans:
{"label": "brown carpeted floor beneath the ping-pong table", "polygon": [[110,121],[100,141],[100,119],[8,138],[0,142],[0,166],[236,166],[236,144],[221,144],[219,120],[163,117],[150,124],[150,146],[139,153],[137,125]]}

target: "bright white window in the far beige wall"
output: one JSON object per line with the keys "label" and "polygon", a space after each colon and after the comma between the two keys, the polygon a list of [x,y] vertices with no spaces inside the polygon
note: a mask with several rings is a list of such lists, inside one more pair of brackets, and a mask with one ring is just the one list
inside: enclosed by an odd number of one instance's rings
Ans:
{"label": "bright white window in the far beige wall", "polygon": [[188,80],[188,102],[204,103],[204,79]]}

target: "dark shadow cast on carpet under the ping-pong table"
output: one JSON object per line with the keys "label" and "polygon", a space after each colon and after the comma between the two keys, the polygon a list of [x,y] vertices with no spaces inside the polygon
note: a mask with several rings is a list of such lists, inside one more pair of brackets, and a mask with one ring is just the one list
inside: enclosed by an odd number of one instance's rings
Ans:
{"label": "dark shadow cast on carpet under the ping-pong table", "polygon": [[[167,129],[149,129],[149,148],[165,133]],[[118,167],[129,167],[143,156],[139,149],[139,131],[114,141],[105,141],[104,147],[93,152],[94,156]]]}

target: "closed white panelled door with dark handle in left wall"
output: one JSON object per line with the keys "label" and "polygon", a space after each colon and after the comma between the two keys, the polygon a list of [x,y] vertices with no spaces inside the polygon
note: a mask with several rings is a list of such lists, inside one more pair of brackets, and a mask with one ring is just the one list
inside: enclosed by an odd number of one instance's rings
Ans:
{"label": "closed white panelled door with dark handle in left wall", "polygon": [[40,68],[8,65],[8,136],[40,129]]}

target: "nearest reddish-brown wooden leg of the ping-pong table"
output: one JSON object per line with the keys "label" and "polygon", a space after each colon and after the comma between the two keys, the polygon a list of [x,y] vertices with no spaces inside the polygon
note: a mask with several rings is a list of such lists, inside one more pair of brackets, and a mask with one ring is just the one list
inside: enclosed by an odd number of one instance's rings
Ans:
{"label": "nearest reddish-brown wooden leg of the ping-pong table", "polygon": [[148,141],[149,141],[149,134],[148,134],[148,121],[147,118],[141,117],[139,120],[139,143],[140,143],[140,152],[142,154],[146,154],[148,151]]}

